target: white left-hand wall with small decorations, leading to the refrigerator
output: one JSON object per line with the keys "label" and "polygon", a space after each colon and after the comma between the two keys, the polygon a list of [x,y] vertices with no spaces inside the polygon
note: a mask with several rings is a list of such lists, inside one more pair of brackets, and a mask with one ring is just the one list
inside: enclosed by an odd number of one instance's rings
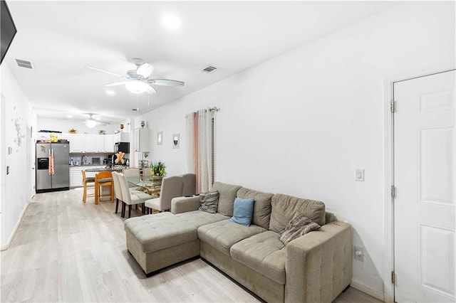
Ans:
{"label": "white left-hand wall with small decorations, leading to the refrigerator", "polygon": [[[21,213],[34,193],[35,174],[32,170],[34,144],[30,129],[31,127],[33,131],[36,129],[36,116],[6,62],[1,65],[0,74],[2,102],[0,247],[4,248],[11,241]],[[11,147],[11,154],[8,152],[9,147]],[[9,166],[8,175],[6,175],[6,166]]]}

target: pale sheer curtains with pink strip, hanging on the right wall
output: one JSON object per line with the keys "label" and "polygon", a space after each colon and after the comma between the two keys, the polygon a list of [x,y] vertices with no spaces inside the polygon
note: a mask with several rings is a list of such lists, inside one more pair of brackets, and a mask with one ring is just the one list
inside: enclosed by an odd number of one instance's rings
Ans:
{"label": "pale sheer curtains with pink strip, hanging on the right wall", "polygon": [[209,108],[185,116],[187,127],[187,166],[197,175],[197,191],[212,188],[214,157],[214,111]]}

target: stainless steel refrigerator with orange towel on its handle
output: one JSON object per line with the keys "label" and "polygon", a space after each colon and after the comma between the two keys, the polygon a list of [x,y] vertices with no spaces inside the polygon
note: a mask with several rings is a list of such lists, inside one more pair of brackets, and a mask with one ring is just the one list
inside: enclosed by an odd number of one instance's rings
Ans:
{"label": "stainless steel refrigerator with orange towel on its handle", "polygon": [[70,188],[69,153],[69,142],[36,143],[36,193]]}

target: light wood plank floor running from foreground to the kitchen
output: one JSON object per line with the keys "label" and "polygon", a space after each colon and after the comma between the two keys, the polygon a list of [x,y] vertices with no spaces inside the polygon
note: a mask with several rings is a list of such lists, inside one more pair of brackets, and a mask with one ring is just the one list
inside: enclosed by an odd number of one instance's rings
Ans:
{"label": "light wood plank floor running from foreground to the kitchen", "polygon": [[[146,278],[114,209],[93,198],[82,203],[80,188],[36,194],[9,249],[0,252],[0,301],[259,302],[201,259]],[[380,301],[350,288],[336,302]]]}

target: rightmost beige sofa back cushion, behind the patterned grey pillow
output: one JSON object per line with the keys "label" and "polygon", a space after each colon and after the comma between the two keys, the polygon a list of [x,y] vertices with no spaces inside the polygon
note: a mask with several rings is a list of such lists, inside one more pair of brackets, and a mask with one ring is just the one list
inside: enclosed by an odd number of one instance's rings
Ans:
{"label": "rightmost beige sofa back cushion, behind the patterned grey pillow", "polygon": [[293,218],[296,211],[318,225],[325,224],[325,204],[321,201],[307,200],[276,193],[271,201],[271,220],[269,230],[280,233]]}

